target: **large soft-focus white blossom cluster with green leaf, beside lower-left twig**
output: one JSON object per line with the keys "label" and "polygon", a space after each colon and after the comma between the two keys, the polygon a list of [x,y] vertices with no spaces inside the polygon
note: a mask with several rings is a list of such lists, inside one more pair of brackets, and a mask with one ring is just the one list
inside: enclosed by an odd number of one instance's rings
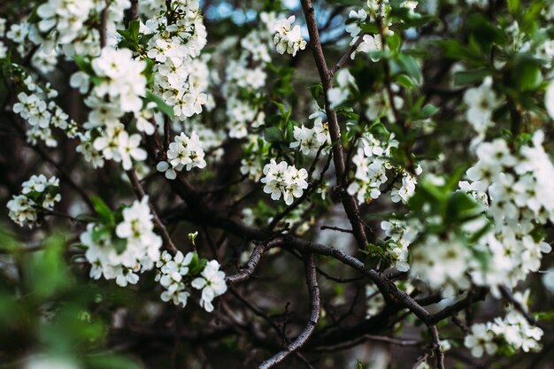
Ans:
{"label": "large soft-focus white blossom cluster with green leaf, beside lower-left twig", "polygon": [[118,215],[116,212],[102,222],[89,223],[81,243],[92,265],[90,277],[97,280],[104,276],[125,287],[139,280],[138,273],[152,269],[159,259],[162,239],[154,233],[148,196]]}

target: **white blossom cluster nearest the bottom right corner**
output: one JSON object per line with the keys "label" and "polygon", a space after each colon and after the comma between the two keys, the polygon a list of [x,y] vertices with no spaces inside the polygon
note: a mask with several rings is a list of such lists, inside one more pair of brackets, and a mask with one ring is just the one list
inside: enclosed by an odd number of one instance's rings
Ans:
{"label": "white blossom cluster nearest the bottom right corner", "polygon": [[542,334],[541,328],[531,326],[523,315],[510,308],[504,319],[497,317],[486,324],[473,324],[464,344],[474,357],[482,357],[484,353],[494,355],[506,349],[507,352],[538,351]]}

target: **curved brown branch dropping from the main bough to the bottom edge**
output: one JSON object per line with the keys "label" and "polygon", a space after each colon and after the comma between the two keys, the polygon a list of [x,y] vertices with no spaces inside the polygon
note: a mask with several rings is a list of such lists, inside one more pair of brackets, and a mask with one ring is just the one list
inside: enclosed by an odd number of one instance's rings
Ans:
{"label": "curved brown branch dropping from the main bough to the bottom edge", "polygon": [[306,270],[306,284],[308,285],[308,290],[310,293],[310,320],[308,320],[308,324],[306,325],[302,333],[299,334],[298,337],[296,337],[296,340],[294,342],[289,343],[285,350],[278,352],[273,357],[268,358],[262,364],[258,365],[258,369],[269,369],[274,365],[278,365],[286,357],[289,357],[290,354],[296,352],[297,350],[300,350],[304,346],[304,343],[307,342],[308,339],[310,339],[313,331],[315,330],[315,327],[318,324],[320,304],[319,286],[315,269],[315,258],[313,254],[307,254],[304,256],[304,267]]}

